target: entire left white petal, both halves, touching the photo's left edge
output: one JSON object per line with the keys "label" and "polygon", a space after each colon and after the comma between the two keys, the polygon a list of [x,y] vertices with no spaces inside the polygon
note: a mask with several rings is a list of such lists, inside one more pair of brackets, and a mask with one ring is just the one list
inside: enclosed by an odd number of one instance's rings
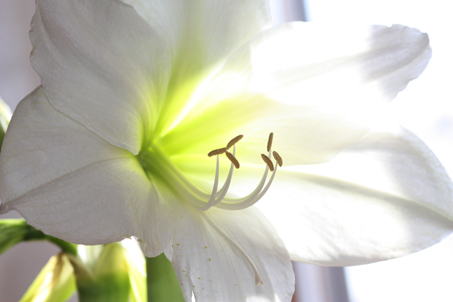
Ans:
{"label": "entire left white petal, both halves, touching the photo's left edge", "polygon": [[[132,155],[55,110],[38,88],[17,107],[0,154],[7,208],[46,234],[82,244],[141,235],[152,186]],[[147,227],[153,230],[152,220]],[[151,231],[149,231],[151,232]]]}

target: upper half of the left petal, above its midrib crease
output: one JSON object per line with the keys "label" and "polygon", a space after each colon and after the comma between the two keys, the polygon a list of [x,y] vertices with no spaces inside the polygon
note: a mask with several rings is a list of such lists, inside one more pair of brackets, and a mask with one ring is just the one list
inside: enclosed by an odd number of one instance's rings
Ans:
{"label": "upper half of the left petal, above its midrib crease", "polygon": [[2,146],[2,200],[9,203],[77,169],[127,153],[55,110],[38,87],[19,103]]}

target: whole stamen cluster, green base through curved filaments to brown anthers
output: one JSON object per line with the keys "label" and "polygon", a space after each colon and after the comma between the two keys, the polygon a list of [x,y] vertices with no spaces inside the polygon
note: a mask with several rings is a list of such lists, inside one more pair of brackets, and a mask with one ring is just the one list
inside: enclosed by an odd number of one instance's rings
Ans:
{"label": "whole stamen cluster, green base through curved filaments to brown anthers", "polygon": [[[148,174],[148,177],[159,177],[169,187],[173,188],[186,202],[193,208],[199,211],[206,211],[212,207],[219,207],[226,210],[241,210],[248,208],[258,202],[272,184],[277,166],[282,166],[283,161],[280,155],[272,151],[273,133],[269,134],[267,142],[268,155],[261,154],[261,158],[266,164],[263,176],[258,186],[247,196],[242,198],[227,198],[226,195],[230,188],[233,177],[234,168],[239,169],[240,163],[236,158],[236,143],[243,138],[243,135],[238,135],[228,142],[226,147],[212,150],[208,153],[209,157],[216,156],[216,172],[214,177],[214,185],[211,194],[207,194],[194,186],[186,177],[167,159],[158,148],[149,147],[140,152],[138,160]],[[233,152],[230,152],[230,149]],[[219,190],[219,174],[220,174],[220,159],[219,157],[225,154],[231,162],[228,176]],[[272,162],[275,159],[275,164]],[[266,184],[269,170],[272,172],[269,181]]]}

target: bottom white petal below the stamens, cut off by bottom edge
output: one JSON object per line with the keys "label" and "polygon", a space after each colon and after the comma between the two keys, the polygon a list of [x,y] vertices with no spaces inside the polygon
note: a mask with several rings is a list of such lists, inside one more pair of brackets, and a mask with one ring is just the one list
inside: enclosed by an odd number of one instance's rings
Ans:
{"label": "bottom white petal below the stamens, cut off by bottom edge", "polygon": [[[186,301],[192,292],[197,301],[291,301],[289,255],[259,211],[201,213],[169,190],[159,190],[159,197],[159,240]],[[259,278],[263,285],[256,285]]]}

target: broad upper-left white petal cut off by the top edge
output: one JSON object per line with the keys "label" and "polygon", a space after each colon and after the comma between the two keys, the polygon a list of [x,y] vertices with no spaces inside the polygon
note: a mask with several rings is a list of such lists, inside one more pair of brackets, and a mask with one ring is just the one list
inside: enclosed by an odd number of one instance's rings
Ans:
{"label": "broad upper-left white petal cut off by the top edge", "polygon": [[37,1],[31,62],[52,105],[138,153],[170,73],[158,35],[119,1]]}

